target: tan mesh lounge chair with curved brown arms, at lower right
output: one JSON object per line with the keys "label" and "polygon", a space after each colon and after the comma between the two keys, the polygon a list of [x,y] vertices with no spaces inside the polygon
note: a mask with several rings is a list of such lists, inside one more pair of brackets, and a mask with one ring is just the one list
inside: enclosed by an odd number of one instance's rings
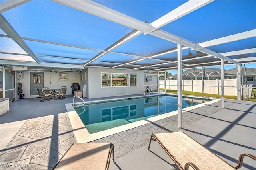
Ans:
{"label": "tan mesh lounge chair with curved brown arms, at lower right", "polygon": [[153,134],[150,138],[148,150],[150,149],[152,140],[157,141],[161,145],[180,170],[188,170],[189,168],[194,170],[234,170],[242,167],[244,156],[256,160],[256,157],[251,154],[241,154],[239,156],[238,165],[232,167],[184,132]]}

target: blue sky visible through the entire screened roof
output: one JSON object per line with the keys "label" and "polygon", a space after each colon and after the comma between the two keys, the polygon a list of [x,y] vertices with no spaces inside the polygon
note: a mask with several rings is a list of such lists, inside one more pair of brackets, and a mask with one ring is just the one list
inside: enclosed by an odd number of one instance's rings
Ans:
{"label": "blue sky visible through the entire screened roof", "polygon": [[[0,2],[3,2],[3,0],[0,0]],[[94,2],[141,22],[147,21],[149,24],[187,1],[94,0]],[[176,20],[160,29],[191,42],[202,43],[256,29],[255,11],[256,1],[213,1],[194,12],[176,18]],[[116,41],[133,30],[130,27],[50,0],[29,1],[2,12],[2,15],[8,23],[10,23],[11,27],[14,28],[18,36],[23,39],[33,53],[36,54],[36,57],[45,63],[74,63],[82,65],[92,60],[99,53],[115,44]],[[3,42],[2,40],[8,39],[4,31],[0,30],[0,34],[0,43]],[[49,44],[46,45],[46,42],[49,42]],[[6,41],[6,43],[0,44],[0,52],[12,53],[13,55],[26,54],[23,50],[19,51],[21,48],[18,47],[18,45],[15,43],[15,45],[12,45],[12,43],[14,42],[10,43]],[[60,44],[63,44],[63,46]],[[64,44],[66,46],[64,46]],[[14,46],[17,46],[19,50],[16,51]],[[10,49],[10,47],[13,48]],[[143,57],[151,57],[176,48],[176,43],[155,37],[150,35],[150,33],[140,33],[140,35],[113,50],[113,52],[126,53],[127,55],[111,54],[111,52],[108,51],[107,54],[96,59],[98,63],[93,61],[87,66],[113,67],[117,66],[117,64],[125,64],[117,68],[139,68],[142,70],[145,68],[146,70],[151,68],[170,69],[173,64],[163,64],[163,62],[177,61],[177,52],[160,55],[153,59],[137,61],[131,64],[126,63],[136,61],[136,59],[142,59]],[[217,53],[256,48],[256,38],[248,38],[223,44],[220,42],[218,45],[212,45],[207,48]],[[14,51],[12,51],[12,49],[14,49]],[[254,53],[256,53],[255,50],[254,52],[245,53],[243,55],[232,55],[230,58],[241,60],[247,57],[254,59]],[[6,59],[8,55],[9,54],[1,56]],[[136,55],[137,57],[129,55]],[[182,63],[190,64],[191,67],[203,66],[204,64],[220,64],[220,59],[218,58],[198,58],[207,55],[208,54],[196,50],[191,50],[190,48],[183,49],[182,60],[185,61],[182,61]],[[53,56],[52,59],[50,58],[51,56]],[[14,56],[12,59],[18,59],[18,57]],[[160,59],[162,61],[154,59]],[[24,60],[26,61],[27,59]],[[225,62],[225,64],[226,63],[228,62]],[[142,66],[145,67],[140,68]],[[185,67],[189,66],[182,66],[182,68]]]}

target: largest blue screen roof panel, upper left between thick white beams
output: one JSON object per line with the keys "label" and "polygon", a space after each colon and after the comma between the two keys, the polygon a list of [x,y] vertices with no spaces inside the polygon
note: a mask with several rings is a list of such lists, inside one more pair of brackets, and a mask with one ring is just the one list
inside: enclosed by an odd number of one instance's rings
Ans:
{"label": "largest blue screen roof panel, upper left between thick white beams", "polygon": [[2,14],[22,38],[101,50],[132,30],[46,0],[30,1]]}

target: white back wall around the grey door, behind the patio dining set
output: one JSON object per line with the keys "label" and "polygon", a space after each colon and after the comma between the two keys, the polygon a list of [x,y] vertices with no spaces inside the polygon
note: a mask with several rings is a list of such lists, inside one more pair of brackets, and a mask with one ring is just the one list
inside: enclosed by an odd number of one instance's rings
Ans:
{"label": "white back wall around the grey door, behind the patio dining set", "polygon": [[[60,74],[54,72],[44,72],[44,87],[50,89],[61,88],[62,86],[67,87],[66,94],[72,94],[72,83],[79,83],[79,72],[67,72],[68,80],[59,80]],[[51,76],[50,76],[51,75]],[[51,83],[50,83],[51,82]],[[24,72],[24,78],[20,80],[22,83],[22,90],[25,94],[25,98],[35,98],[38,95],[30,95],[30,72]],[[19,98],[19,96],[18,96]]]}

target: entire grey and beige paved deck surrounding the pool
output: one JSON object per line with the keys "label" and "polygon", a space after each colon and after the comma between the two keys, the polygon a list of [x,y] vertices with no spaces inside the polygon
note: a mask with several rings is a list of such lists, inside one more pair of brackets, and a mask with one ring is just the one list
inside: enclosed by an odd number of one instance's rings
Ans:
{"label": "entire grey and beige paved deck surrounding the pool", "polygon": [[[72,129],[65,107],[73,102],[73,96],[66,96],[65,100],[40,100],[18,100],[0,116],[0,169],[15,165],[22,167],[8,169],[51,169],[76,142],[74,132],[80,129]],[[178,129],[177,115],[173,115],[91,142],[114,143],[115,163],[110,162],[110,170],[177,169],[157,142],[152,141],[150,151],[147,147],[152,133],[184,131],[236,166],[241,153],[256,155],[256,103],[225,100],[224,106],[221,109],[221,102],[215,102],[185,111],[182,129]],[[245,158],[241,169],[255,167],[256,162]]]}

